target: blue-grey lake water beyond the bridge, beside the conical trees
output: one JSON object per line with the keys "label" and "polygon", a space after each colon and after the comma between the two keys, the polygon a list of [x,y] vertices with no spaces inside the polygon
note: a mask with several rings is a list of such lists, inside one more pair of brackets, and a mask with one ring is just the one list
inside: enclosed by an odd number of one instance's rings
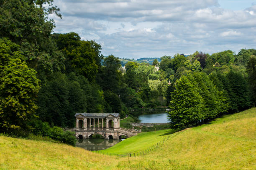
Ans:
{"label": "blue-grey lake water beyond the bridge, beside the conical trees", "polygon": [[139,115],[138,119],[141,123],[168,123],[166,112],[145,112],[146,114]]}

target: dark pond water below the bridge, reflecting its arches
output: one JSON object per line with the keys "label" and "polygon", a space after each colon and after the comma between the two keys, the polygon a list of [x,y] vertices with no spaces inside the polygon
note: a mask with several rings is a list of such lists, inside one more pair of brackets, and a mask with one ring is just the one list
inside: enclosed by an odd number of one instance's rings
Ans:
{"label": "dark pond water below the bridge, reflecting its arches", "polygon": [[103,150],[114,146],[115,144],[121,142],[124,139],[102,139],[102,138],[92,138],[92,139],[78,139],[76,146],[84,148],[86,150]]}

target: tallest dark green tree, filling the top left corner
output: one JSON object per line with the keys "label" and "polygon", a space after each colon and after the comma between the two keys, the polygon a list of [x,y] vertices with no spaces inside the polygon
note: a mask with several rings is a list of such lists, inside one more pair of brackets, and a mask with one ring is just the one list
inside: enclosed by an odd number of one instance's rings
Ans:
{"label": "tallest dark green tree, filling the top left corner", "polygon": [[[0,37],[8,37],[20,45],[20,52],[25,56],[28,66],[35,70],[38,70],[38,62],[45,71],[54,70],[53,65],[59,63],[59,53],[50,39],[54,21],[49,20],[48,15],[61,15],[59,9],[52,6],[52,2],[53,0],[0,1]],[[47,65],[42,67],[44,63]],[[57,68],[61,67],[56,66],[55,69]]]}

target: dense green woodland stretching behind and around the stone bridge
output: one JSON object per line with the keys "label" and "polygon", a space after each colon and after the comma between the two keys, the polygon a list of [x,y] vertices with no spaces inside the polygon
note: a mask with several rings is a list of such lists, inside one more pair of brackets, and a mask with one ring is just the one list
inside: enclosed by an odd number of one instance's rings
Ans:
{"label": "dense green woodland stretching behind and around the stone bridge", "polygon": [[255,106],[255,49],[129,61],[124,69],[94,40],[54,33],[49,15],[61,14],[52,2],[0,0],[0,133],[59,133],[65,142],[61,128],[74,127],[76,112],[125,117],[169,107],[172,127],[184,128]]}

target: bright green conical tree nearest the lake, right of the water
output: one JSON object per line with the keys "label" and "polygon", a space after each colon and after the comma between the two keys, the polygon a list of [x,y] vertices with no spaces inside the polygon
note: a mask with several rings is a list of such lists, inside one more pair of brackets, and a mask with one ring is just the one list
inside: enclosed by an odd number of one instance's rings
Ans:
{"label": "bright green conical tree nearest the lake, right of the water", "polygon": [[198,123],[203,118],[204,101],[200,95],[197,82],[189,75],[190,80],[182,76],[177,80],[172,92],[169,107],[169,120],[172,128],[184,128]]}

